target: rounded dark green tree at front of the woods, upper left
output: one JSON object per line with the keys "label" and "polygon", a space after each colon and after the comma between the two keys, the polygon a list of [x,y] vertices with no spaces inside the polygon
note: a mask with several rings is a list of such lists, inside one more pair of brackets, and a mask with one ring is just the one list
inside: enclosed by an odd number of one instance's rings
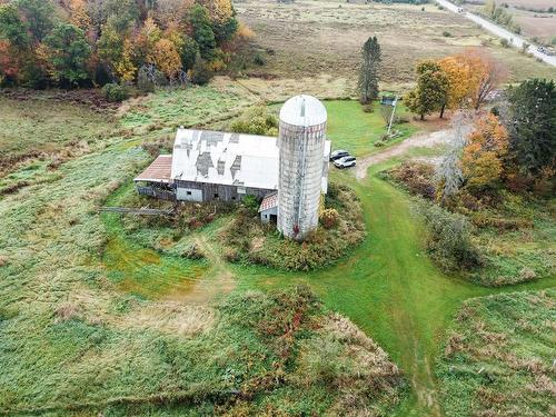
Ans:
{"label": "rounded dark green tree at front of the woods, upper left", "polygon": [[91,48],[83,31],[73,24],[60,23],[46,38],[48,62],[56,81],[78,85],[88,78],[87,60]]}

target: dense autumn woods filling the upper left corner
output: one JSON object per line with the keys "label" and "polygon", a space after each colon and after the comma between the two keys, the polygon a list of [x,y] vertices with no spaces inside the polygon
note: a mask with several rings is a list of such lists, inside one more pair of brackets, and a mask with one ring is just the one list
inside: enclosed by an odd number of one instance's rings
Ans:
{"label": "dense autumn woods filling the upper left corner", "polygon": [[0,86],[205,83],[250,36],[231,0],[0,0]]}

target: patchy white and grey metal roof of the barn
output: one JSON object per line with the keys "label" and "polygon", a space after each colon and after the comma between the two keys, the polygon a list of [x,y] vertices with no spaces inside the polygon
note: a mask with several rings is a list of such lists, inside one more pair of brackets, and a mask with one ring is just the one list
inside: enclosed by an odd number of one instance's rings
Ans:
{"label": "patchy white and grey metal roof of the barn", "polygon": [[[326,141],[324,160],[329,153]],[[277,138],[178,129],[172,179],[277,190],[278,175]]]}

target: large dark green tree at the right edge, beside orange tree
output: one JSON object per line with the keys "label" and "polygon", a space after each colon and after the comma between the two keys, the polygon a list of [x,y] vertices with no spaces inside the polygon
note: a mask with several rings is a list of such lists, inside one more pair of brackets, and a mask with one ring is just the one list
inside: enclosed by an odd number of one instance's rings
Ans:
{"label": "large dark green tree at the right edge, beside orange tree", "polygon": [[537,175],[556,159],[556,87],[554,81],[524,81],[509,90],[508,100],[510,153],[522,172]]}

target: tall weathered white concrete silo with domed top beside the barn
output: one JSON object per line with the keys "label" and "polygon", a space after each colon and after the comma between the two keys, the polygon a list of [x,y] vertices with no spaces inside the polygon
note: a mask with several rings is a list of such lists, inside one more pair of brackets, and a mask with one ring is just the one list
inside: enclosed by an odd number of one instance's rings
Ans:
{"label": "tall weathered white concrete silo with domed top beside the barn", "polygon": [[325,106],[311,96],[296,96],[280,110],[277,226],[291,239],[318,226],[326,121]]}

